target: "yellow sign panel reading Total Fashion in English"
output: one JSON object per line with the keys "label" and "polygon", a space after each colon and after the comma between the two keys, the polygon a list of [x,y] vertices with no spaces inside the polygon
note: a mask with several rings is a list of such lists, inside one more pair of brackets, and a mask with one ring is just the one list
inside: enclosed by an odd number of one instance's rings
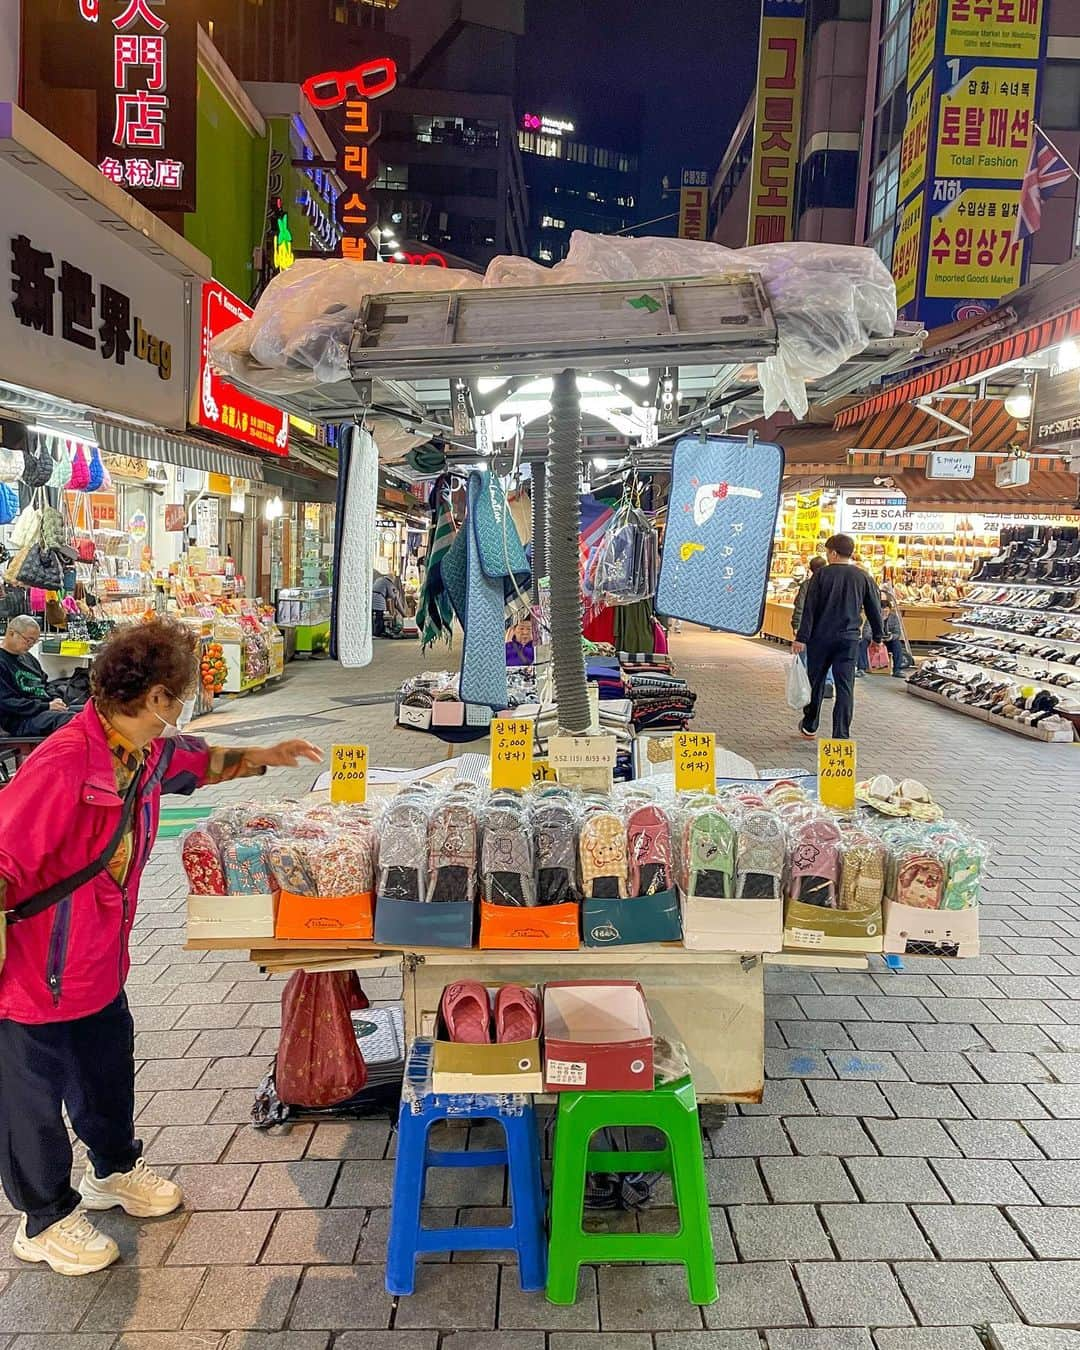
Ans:
{"label": "yellow sign panel reading Total Fashion in English", "polygon": [[975,66],[941,96],[938,178],[1023,178],[1035,120],[1034,69]]}

